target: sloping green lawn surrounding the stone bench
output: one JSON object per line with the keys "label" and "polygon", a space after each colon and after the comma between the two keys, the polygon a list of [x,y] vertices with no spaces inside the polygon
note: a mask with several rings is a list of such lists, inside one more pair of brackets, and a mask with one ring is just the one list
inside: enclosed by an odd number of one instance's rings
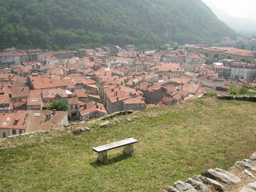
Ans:
{"label": "sloping green lawn surrounding the stone bench", "polygon": [[[206,169],[228,169],[256,151],[255,107],[203,98],[139,111],[139,119],[117,117],[105,128],[100,121],[74,125],[91,128],[79,136],[69,127],[10,139],[10,145],[5,140],[0,191],[156,191]],[[92,147],[130,137],[139,140],[135,156],[118,148],[109,151],[107,165],[95,161]]]}

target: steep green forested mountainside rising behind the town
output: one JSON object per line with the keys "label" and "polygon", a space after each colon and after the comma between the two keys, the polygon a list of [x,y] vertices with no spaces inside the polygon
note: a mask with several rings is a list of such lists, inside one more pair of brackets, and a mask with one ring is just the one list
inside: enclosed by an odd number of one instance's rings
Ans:
{"label": "steep green forested mountainside rising behind the town", "polygon": [[0,48],[149,46],[234,35],[201,0],[0,1]]}

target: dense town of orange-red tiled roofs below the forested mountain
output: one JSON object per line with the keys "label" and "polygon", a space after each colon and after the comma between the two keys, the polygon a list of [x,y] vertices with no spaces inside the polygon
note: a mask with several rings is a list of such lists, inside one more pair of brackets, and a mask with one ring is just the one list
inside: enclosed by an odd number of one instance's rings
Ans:
{"label": "dense town of orange-red tiled roofs below the forested mountain", "polygon": [[[169,45],[166,45],[170,48]],[[109,45],[75,51],[0,53],[0,139],[57,129],[116,111],[174,105],[232,86],[256,89],[255,52],[187,45],[135,51]],[[68,111],[49,110],[53,102]]]}

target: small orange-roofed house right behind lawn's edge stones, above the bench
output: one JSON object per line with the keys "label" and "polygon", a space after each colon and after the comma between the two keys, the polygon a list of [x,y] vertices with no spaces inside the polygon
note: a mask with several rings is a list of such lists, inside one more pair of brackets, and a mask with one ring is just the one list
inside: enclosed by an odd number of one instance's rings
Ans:
{"label": "small orange-roofed house right behind lawn's edge stones, above the bench", "polygon": [[80,121],[88,121],[91,118],[99,118],[107,113],[107,110],[101,103],[94,101],[87,102],[79,109]]}

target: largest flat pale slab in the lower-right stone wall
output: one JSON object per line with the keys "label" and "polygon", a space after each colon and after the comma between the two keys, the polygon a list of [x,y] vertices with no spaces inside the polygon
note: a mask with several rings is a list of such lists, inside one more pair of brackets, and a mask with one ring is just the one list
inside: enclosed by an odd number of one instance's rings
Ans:
{"label": "largest flat pale slab in the lower-right stone wall", "polygon": [[218,168],[216,168],[215,170],[209,169],[207,171],[204,171],[202,173],[202,175],[207,178],[214,179],[214,180],[219,179],[219,180],[229,183],[229,184],[230,183],[236,184],[236,183],[241,182],[241,179],[239,177],[237,177],[236,175],[234,175],[228,171],[218,169]]}

